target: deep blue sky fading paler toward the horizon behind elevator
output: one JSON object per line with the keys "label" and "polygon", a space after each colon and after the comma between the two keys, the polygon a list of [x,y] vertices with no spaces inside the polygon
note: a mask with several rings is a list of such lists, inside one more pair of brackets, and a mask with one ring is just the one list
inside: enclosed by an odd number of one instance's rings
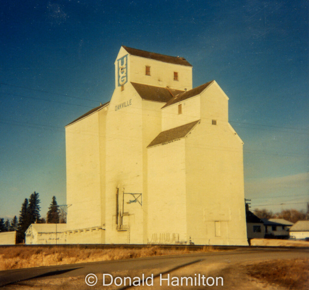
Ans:
{"label": "deep blue sky fading paler toward the horizon behind elevator", "polygon": [[[0,9],[0,217],[66,203],[64,126],[110,100],[121,45],[215,79],[244,141],[253,208],[309,201],[308,2],[11,1]],[[282,204],[282,205],[280,205]]]}

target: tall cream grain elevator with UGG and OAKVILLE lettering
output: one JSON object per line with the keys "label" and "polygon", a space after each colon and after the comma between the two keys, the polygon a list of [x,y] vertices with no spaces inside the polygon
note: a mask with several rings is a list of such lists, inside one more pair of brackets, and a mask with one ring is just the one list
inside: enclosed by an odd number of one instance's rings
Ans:
{"label": "tall cream grain elevator with UGG and OAKVILLE lettering", "polygon": [[248,245],[243,142],[216,81],[122,46],[108,103],[66,126],[66,243]]}

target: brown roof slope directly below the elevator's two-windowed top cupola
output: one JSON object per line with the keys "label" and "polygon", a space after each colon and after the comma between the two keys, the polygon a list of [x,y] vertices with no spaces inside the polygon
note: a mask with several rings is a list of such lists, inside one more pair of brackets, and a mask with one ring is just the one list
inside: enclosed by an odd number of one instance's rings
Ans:
{"label": "brown roof slope directly below the elevator's two-windowed top cupola", "polygon": [[167,103],[170,99],[173,98],[173,95],[175,96],[183,92],[183,90],[167,89],[159,86],[149,86],[138,84],[136,82],[131,82],[131,84],[138,92],[138,95],[140,95],[143,100],[148,101]]}

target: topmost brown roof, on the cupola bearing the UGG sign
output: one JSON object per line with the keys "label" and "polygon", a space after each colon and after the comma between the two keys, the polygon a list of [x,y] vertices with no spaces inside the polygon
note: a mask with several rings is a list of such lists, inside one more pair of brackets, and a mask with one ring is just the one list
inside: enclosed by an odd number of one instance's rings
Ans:
{"label": "topmost brown roof, on the cupola bearing the UGG sign", "polygon": [[173,63],[173,64],[176,64],[176,65],[192,66],[183,57],[171,57],[169,55],[164,55],[164,54],[159,54],[159,53],[151,53],[149,51],[131,48],[131,47],[127,47],[127,46],[124,46],[124,45],[122,45],[122,47],[129,54],[135,55],[137,57],[150,58],[150,59],[154,59],[156,61],[163,61],[163,62],[167,62],[167,63]]}

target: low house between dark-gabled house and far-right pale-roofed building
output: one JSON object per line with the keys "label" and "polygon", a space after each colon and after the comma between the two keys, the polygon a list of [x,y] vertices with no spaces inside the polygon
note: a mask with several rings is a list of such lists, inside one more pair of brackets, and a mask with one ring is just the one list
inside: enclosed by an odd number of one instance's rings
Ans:
{"label": "low house between dark-gabled house and far-right pale-roofed building", "polygon": [[262,219],[265,226],[265,238],[287,239],[289,238],[289,229],[294,225],[290,221],[280,218]]}

